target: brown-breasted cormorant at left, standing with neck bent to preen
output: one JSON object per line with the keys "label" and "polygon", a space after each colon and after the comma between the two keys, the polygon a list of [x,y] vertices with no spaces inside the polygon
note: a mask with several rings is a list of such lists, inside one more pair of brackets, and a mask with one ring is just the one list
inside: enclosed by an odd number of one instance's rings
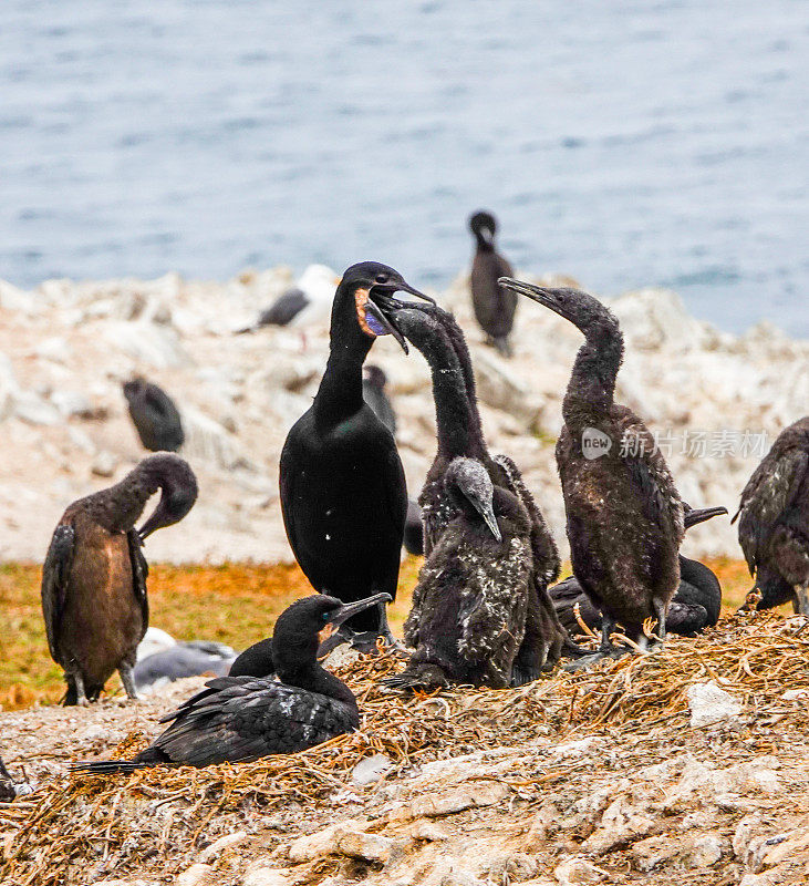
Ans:
{"label": "brown-breasted cormorant at left, standing with neck bent to preen", "polygon": [[[157,490],[155,511],[136,530]],[[187,462],[160,453],[64,512],[42,569],[42,612],[51,656],[68,680],[65,704],[97,699],[115,670],[126,694],[137,698],[132,668],[148,627],[148,567],[141,546],[156,529],[183,519],[196,498]]]}

